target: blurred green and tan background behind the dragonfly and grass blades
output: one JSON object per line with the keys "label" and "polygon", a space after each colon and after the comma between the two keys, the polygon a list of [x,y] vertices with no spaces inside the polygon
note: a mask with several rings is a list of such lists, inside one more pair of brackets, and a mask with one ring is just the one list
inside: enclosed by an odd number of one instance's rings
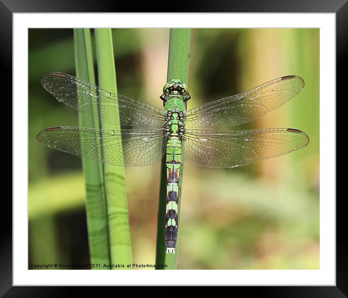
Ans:
{"label": "blurred green and tan background behind the dragonfly and grass blades", "polygon": [[[169,29],[112,32],[119,93],[163,107]],[[73,30],[29,29],[29,268],[89,263],[81,158],[35,139],[78,126],[40,84],[53,71],[75,75]],[[192,29],[188,109],[284,75],[304,90],[232,129],[295,128],[310,144],[242,168],[185,163],[178,269],[319,269],[319,29]],[[125,174],[133,262],[155,264],[160,164]]]}

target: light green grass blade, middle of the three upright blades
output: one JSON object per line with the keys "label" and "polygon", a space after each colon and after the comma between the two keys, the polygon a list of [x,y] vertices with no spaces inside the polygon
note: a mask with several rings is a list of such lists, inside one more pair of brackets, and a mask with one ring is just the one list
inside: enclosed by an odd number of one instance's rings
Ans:
{"label": "light green grass blade, middle of the three upright blades", "polygon": [[[117,93],[111,29],[95,29],[94,32],[99,78],[98,85],[107,91]],[[102,123],[102,128],[119,130],[120,126]],[[127,265],[132,263],[132,250],[128,206],[124,186],[124,168],[104,165],[104,185],[109,223],[111,261],[112,263],[125,265],[125,268],[120,269],[130,269],[127,268]]]}

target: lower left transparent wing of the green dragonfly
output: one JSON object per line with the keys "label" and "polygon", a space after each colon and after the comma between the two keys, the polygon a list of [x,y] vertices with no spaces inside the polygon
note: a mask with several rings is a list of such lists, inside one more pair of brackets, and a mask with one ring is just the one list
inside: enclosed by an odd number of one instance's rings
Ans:
{"label": "lower left transparent wing of the green dragonfly", "polygon": [[159,161],[165,151],[163,130],[99,130],[53,127],[40,131],[39,143],[114,166],[145,166]]}

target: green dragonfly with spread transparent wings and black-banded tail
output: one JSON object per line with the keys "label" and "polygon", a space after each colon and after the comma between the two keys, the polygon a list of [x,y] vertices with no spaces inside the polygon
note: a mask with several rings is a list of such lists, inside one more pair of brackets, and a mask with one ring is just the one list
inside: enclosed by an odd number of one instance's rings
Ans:
{"label": "green dragonfly with spread transparent wings and black-banded tail", "polygon": [[189,111],[191,95],[180,79],[164,85],[160,95],[164,109],[63,73],[44,75],[41,83],[58,101],[121,129],[52,127],[37,134],[39,143],[114,166],[145,166],[166,156],[166,253],[175,253],[177,241],[181,155],[196,166],[236,168],[309,143],[308,135],[297,129],[214,129],[247,123],[285,104],[304,88],[304,80],[296,75],[276,78]]}

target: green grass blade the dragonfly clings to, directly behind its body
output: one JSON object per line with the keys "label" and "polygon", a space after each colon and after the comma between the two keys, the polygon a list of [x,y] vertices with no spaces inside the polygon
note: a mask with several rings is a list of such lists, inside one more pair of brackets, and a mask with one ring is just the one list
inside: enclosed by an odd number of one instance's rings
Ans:
{"label": "green grass blade the dragonfly clings to, directly behind its body", "polygon": [[[169,56],[168,56],[168,73],[167,82],[171,79],[181,79],[185,84],[189,80],[189,59],[190,59],[190,42],[191,29],[171,29],[169,38]],[[184,144],[182,144],[184,151]],[[181,186],[183,174],[183,156],[181,155],[180,177],[179,177],[179,214],[178,214],[178,229],[180,230],[180,202],[181,202]],[[161,169],[161,184],[159,191],[159,207],[158,207],[158,222],[157,222],[157,251],[156,264],[167,265],[167,268],[157,269],[176,269],[176,258],[178,253],[178,242],[176,242],[175,254],[166,254],[166,246],[164,241],[164,226],[165,226],[165,205],[167,195],[167,169],[165,164],[165,156],[162,159]],[[179,235],[179,233],[178,233]]]}

